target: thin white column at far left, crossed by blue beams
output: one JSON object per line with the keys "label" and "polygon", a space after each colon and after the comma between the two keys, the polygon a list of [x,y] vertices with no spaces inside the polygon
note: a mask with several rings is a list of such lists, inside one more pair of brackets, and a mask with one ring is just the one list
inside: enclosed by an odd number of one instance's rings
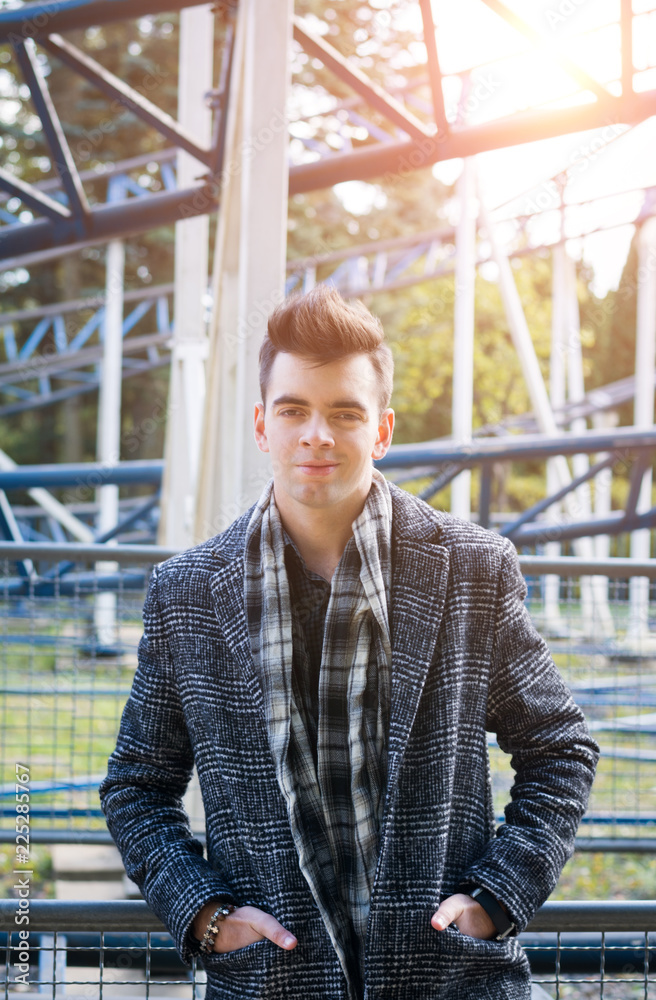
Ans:
{"label": "thin white column at far left, crossed by blue beams", "polygon": [[[121,456],[121,388],[123,378],[123,281],[125,244],[112,240],[107,244],[105,275],[105,317],[103,321],[103,359],[98,392],[98,462],[114,465]],[[108,484],[96,490],[99,534],[118,522],[118,486]],[[108,545],[112,543],[109,542]],[[96,563],[97,573],[115,573],[115,562]],[[99,593],[94,610],[96,640],[110,649],[116,644],[116,594]]]}

